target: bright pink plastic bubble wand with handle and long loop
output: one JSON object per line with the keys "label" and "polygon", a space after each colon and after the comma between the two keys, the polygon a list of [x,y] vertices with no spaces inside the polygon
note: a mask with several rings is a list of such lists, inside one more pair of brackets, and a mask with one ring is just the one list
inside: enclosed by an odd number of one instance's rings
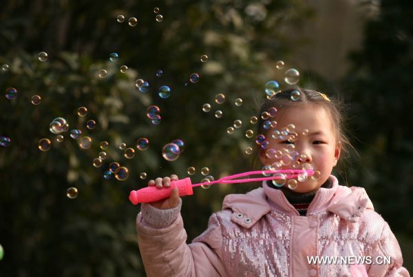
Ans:
{"label": "bright pink plastic bubble wand with handle and long loop", "polygon": [[[258,170],[253,172],[244,172],[240,174],[235,174],[231,176],[225,176],[217,181],[212,182],[205,182],[205,183],[198,183],[193,184],[191,183],[190,178],[184,178],[178,181],[171,181],[170,187],[164,187],[162,189],[158,189],[156,187],[144,187],[138,190],[132,190],[129,194],[129,201],[132,204],[137,205],[138,203],[151,203],[154,201],[159,201],[164,198],[168,198],[171,195],[171,190],[175,187],[178,187],[179,196],[186,196],[193,194],[193,187],[199,187],[201,185],[213,185],[216,183],[222,184],[232,184],[232,183],[248,183],[248,182],[256,182],[256,181],[267,181],[267,180],[279,180],[281,178],[295,178],[299,176],[299,174],[306,173],[308,176],[312,176],[314,174],[313,170]],[[261,178],[244,178],[244,179],[235,179],[249,175],[256,175],[256,174],[274,174],[273,176],[268,177],[261,177]],[[279,175],[277,175],[279,174]],[[283,176],[284,175],[284,176]],[[234,180],[235,179],[235,180]]]}

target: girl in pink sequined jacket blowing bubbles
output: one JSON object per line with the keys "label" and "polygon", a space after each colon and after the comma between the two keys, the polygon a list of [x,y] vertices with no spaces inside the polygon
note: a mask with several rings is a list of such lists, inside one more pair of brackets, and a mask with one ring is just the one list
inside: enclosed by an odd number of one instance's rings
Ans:
{"label": "girl in pink sequined jacket blowing bubbles", "polygon": [[[260,110],[259,157],[266,168],[312,169],[313,176],[264,181],[224,198],[208,229],[186,244],[177,189],[142,204],[138,243],[148,276],[410,276],[388,223],[365,190],[331,175],[350,143],[337,103],[291,89]],[[264,119],[262,119],[264,118]],[[276,129],[275,129],[275,128]],[[171,178],[149,186],[169,187]]]}

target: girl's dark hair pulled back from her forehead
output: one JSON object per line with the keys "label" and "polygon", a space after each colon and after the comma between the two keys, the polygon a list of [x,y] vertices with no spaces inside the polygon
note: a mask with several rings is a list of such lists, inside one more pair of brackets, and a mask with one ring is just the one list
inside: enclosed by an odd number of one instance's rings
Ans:
{"label": "girl's dark hair pulled back from her forehead", "polygon": [[[268,112],[272,107],[275,107],[278,111],[284,110],[288,107],[295,107],[297,105],[317,105],[324,107],[326,111],[330,113],[330,119],[332,122],[332,129],[335,132],[337,142],[341,143],[341,157],[347,158],[349,156],[350,149],[354,150],[354,147],[348,139],[348,130],[345,125],[345,109],[341,99],[330,99],[326,94],[317,92],[315,90],[306,90],[303,88],[289,88],[282,90],[277,94],[269,97],[262,103],[260,107],[260,113],[258,114],[257,134],[264,134],[268,132],[264,128],[264,121],[262,114]],[[354,150],[355,151],[355,150]],[[355,151],[357,153],[357,151]],[[342,160],[340,158],[340,160]],[[339,161],[340,161],[339,160]]]}

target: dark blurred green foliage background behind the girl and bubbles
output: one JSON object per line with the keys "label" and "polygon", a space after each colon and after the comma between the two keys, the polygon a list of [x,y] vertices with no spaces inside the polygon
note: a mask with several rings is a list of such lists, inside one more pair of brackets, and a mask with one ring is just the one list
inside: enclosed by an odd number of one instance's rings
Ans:
{"label": "dark blurred green foliage background behind the girl and bubbles", "polygon": [[[157,22],[153,8],[164,20]],[[399,240],[404,264],[413,269],[412,85],[413,9],[409,1],[6,1],[0,12],[0,276],[145,276],[136,240],[138,206],[127,197],[158,176],[201,181],[202,167],[215,178],[259,169],[247,129],[264,99],[264,84],[297,68],[298,85],[348,103],[348,128],[357,152],[335,171],[342,184],[365,187],[375,210]],[[125,16],[118,23],[116,17]],[[136,17],[135,27],[127,24]],[[39,52],[48,60],[40,62]],[[109,61],[118,52],[120,59]],[[207,54],[209,61],[200,62]],[[282,70],[275,63],[286,63]],[[127,65],[126,74],[119,71]],[[107,69],[105,79],[98,77]],[[155,76],[156,70],[164,72]],[[189,75],[200,74],[198,83]],[[138,78],[150,83],[142,94]],[[185,85],[187,83],[187,85]],[[171,87],[160,99],[160,85]],[[222,105],[213,102],[224,93]],[[32,105],[34,94],[42,97]],[[243,99],[240,107],[234,105]],[[211,112],[202,105],[211,103]],[[148,105],[158,105],[162,122],[152,125]],[[77,116],[85,106],[85,118]],[[215,110],[222,110],[216,119]],[[93,139],[81,150],[64,133],[54,142],[52,119],[62,116]],[[94,119],[94,130],[85,121]],[[241,119],[232,135],[226,128]],[[149,149],[123,157],[119,143],[134,147],[147,137]],[[52,148],[41,152],[39,139]],[[178,160],[162,158],[162,146],[185,142]],[[109,141],[102,167],[92,166],[100,141]],[[105,180],[109,163],[129,168],[129,178]],[[146,172],[147,179],[140,179]],[[68,187],[78,197],[67,198]],[[216,185],[184,198],[182,215],[189,241],[206,227],[226,194],[257,185]]]}

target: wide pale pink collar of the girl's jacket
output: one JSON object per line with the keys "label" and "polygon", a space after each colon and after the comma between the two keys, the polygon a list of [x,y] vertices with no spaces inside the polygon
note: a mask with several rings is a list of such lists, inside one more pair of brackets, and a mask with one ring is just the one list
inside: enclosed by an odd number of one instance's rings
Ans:
{"label": "wide pale pink collar of the girl's jacket", "polygon": [[[362,187],[344,187],[337,178],[330,175],[332,187],[320,187],[313,201],[308,206],[308,216],[329,211],[343,219],[355,222],[365,209],[374,209],[366,191]],[[231,220],[243,227],[251,227],[264,214],[272,209],[299,216],[297,209],[291,205],[280,189],[268,187],[263,182],[262,188],[247,194],[229,194],[224,198],[223,209],[232,209]]]}

